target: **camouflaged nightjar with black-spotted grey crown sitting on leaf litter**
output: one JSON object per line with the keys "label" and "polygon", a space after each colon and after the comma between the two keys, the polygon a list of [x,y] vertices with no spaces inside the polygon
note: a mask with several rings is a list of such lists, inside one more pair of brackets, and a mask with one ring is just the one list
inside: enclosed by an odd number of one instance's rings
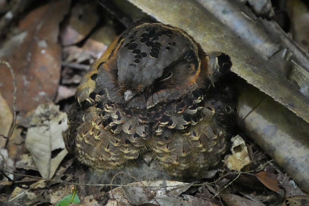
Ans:
{"label": "camouflaged nightjar with black-spotted grey crown sitting on leaf litter", "polygon": [[226,150],[234,97],[215,84],[230,68],[226,54],[205,54],[180,29],[139,25],[84,76],[66,146],[99,172],[150,152],[171,175],[200,176]]}

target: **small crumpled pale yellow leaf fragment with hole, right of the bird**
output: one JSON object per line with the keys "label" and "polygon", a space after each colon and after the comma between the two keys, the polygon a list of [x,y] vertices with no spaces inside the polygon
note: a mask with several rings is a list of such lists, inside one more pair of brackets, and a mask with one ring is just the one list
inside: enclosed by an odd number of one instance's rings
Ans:
{"label": "small crumpled pale yellow leaf fragment with hole, right of the bird", "polygon": [[243,138],[237,135],[231,138],[231,142],[233,142],[231,147],[232,154],[226,155],[223,162],[230,170],[240,171],[243,167],[252,163],[252,160]]}

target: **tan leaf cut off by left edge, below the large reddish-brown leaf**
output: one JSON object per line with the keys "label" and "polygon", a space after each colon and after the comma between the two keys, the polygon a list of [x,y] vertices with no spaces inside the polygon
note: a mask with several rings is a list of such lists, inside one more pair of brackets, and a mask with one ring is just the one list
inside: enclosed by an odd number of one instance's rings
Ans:
{"label": "tan leaf cut off by left edge, below the large reddish-brown leaf", "polygon": [[[9,134],[12,121],[13,114],[11,109],[5,99],[3,99],[0,92],[0,134],[3,134],[4,136]],[[6,145],[6,141],[6,138],[0,137],[0,147],[3,148]]]}

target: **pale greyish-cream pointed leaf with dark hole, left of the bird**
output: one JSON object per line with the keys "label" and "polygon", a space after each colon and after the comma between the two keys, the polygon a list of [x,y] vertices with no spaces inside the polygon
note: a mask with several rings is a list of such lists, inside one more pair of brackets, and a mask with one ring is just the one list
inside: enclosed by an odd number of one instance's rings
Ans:
{"label": "pale greyish-cream pointed leaf with dark hole, left of the bird", "polygon": [[[26,148],[32,154],[42,177],[52,178],[67,154],[61,134],[68,127],[67,115],[59,111],[59,106],[45,103],[38,106],[30,124]],[[52,152],[57,149],[60,152],[52,158]]]}

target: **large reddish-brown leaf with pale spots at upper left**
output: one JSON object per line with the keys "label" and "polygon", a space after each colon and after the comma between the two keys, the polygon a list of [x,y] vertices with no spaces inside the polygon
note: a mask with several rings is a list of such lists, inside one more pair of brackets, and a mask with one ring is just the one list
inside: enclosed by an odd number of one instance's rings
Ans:
{"label": "large reddish-brown leaf with pale spots at upper left", "polygon": [[[52,101],[57,92],[61,70],[61,47],[58,43],[59,23],[67,13],[70,0],[51,1],[31,11],[19,22],[20,33],[7,40],[0,57],[9,62],[17,80],[17,108],[21,115],[40,103]],[[13,105],[10,71],[0,65],[1,91]]]}

